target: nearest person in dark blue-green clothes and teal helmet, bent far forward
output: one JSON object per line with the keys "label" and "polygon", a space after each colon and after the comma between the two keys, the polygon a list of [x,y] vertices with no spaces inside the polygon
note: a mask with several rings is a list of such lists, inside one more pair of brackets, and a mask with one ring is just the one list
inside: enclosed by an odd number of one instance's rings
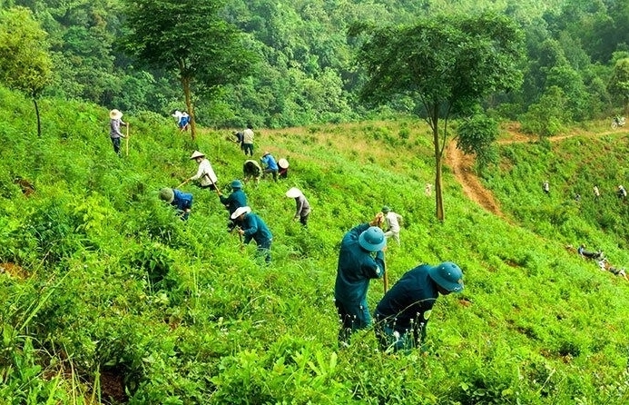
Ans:
{"label": "nearest person in dark blue-green clothes and teal helmet, bent far forward", "polygon": [[453,262],[420,264],[404,273],[378,302],[374,331],[382,351],[425,349],[426,327],[439,294],[463,291],[463,272]]}

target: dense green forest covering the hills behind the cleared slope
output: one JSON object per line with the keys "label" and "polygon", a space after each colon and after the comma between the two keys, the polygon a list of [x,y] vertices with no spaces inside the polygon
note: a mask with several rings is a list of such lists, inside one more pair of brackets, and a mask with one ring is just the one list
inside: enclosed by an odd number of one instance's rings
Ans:
{"label": "dense green forest covering the hills behind the cleared slope", "polygon": [[[128,3],[4,0],[0,5],[30,8],[49,35],[55,77],[44,95],[127,113],[168,115],[184,109],[176,74],[141,70],[138,61],[123,53],[119,40],[128,29],[123,13]],[[234,0],[225,2],[224,18],[246,35],[247,46],[260,60],[246,80],[194,100],[196,120],[214,127],[249,122],[280,128],[373,117],[358,101],[361,75],[353,48],[359,38],[348,36],[350,25],[408,24],[418,15],[482,10],[512,16],[526,34],[524,84],[487,100],[490,111],[519,119],[525,128],[527,120],[556,106],[559,122],[620,112],[623,92],[610,81],[616,62],[629,55],[629,4],[624,1]],[[235,55],[233,64],[241,62]],[[377,113],[414,109],[412,100],[395,100]]]}

